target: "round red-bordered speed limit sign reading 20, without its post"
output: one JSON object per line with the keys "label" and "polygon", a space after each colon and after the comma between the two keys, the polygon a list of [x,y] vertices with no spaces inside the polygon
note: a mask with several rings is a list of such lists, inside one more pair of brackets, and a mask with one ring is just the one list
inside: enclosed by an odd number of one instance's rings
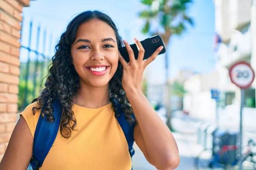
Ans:
{"label": "round red-bordered speed limit sign reading 20, without its post", "polygon": [[231,66],[230,79],[239,88],[249,88],[253,83],[255,74],[247,62],[236,62]]}

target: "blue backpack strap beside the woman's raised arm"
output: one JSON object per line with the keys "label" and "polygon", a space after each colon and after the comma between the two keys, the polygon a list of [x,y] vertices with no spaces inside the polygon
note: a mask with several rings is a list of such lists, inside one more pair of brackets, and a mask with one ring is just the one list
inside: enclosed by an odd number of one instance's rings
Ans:
{"label": "blue backpack strap beside the woman's raised arm", "polygon": [[[119,103],[115,100],[114,101],[117,104],[117,109],[120,113],[120,116],[117,118],[117,121],[119,123],[119,125],[121,126],[124,134],[125,134],[125,138],[126,141],[128,143],[128,147],[129,147],[129,153],[130,156],[134,156],[135,154],[135,150],[133,148],[133,144],[134,144],[134,125],[130,125],[127,120],[125,119],[125,114],[122,113],[121,109],[119,108]],[[135,119],[135,116],[133,115],[133,119]]]}

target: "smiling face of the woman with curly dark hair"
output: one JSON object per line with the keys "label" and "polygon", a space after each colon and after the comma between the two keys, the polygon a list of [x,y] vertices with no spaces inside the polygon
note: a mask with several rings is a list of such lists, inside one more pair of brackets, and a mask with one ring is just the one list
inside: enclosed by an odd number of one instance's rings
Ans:
{"label": "smiling face of the woman with curly dark hair", "polygon": [[116,42],[113,28],[101,20],[90,20],[79,26],[71,56],[80,82],[94,87],[108,84],[118,65]]}

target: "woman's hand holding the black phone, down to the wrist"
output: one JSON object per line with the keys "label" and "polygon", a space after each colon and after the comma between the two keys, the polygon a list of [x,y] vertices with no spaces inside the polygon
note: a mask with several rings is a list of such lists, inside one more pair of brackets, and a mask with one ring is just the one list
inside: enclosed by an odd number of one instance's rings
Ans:
{"label": "woman's hand holding the black phone, down to the wrist", "polygon": [[137,45],[139,51],[138,59],[135,59],[134,51],[128,42],[125,40],[123,42],[128,51],[130,62],[127,63],[119,53],[119,61],[123,66],[122,86],[126,93],[127,91],[138,91],[141,89],[143,72],[146,66],[157,57],[157,55],[163,49],[163,46],[158,47],[157,50],[148,59],[143,60],[145,50],[139,40],[134,38],[134,42]]}

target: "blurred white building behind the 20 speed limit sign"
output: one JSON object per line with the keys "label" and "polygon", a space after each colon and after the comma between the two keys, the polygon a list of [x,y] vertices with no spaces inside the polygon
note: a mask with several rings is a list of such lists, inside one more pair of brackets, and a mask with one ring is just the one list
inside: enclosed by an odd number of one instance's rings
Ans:
{"label": "blurred white building behind the 20 speed limit sign", "polygon": [[[246,61],[256,71],[255,0],[215,0],[215,29],[220,37],[218,63],[219,89],[224,106],[240,105],[240,89],[230,81],[228,70],[238,61]],[[245,107],[255,108],[256,81],[245,90]]]}

